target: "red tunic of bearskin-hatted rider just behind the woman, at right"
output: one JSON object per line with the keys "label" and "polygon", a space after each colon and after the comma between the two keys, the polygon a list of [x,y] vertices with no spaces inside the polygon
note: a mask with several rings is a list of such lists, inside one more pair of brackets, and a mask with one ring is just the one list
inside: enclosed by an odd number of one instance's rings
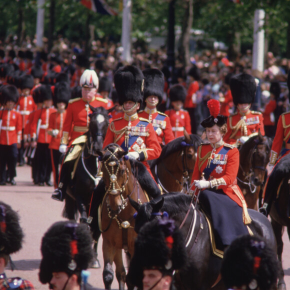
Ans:
{"label": "red tunic of bearskin-hatted rider just behind the woman, at right", "polygon": [[262,135],[265,134],[261,112],[249,111],[245,115],[236,112],[227,119],[227,132],[223,140],[235,144],[241,136],[250,136],[252,133],[258,133],[259,130]]}

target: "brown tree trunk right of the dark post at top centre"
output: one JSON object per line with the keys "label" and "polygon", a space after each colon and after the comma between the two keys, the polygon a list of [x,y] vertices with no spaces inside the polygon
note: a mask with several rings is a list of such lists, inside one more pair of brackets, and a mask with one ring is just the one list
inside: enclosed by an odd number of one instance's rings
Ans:
{"label": "brown tree trunk right of the dark post at top centre", "polygon": [[181,46],[179,47],[179,57],[185,67],[190,66],[189,39],[190,29],[193,23],[193,0],[186,0],[184,20],[181,33]]}

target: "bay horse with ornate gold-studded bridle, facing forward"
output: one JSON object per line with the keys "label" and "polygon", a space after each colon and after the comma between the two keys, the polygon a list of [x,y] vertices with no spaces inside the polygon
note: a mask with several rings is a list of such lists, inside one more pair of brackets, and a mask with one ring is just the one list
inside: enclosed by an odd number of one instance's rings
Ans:
{"label": "bay horse with ornate gold-studded bridle, facing forward", "polygon": [[107,145],[103,151],[99,152],[105,193],[98,208],[98,217],[93,219],[98,219],[102,234],[104,261],[102,276],[105,289],[111,288],[113,262],[116,266],[115,273],[119,289],[124,289],[126,273],[122,261],[122,249],[125,250],[128,261],[134,251],[134,241],[137,235],[133,218],[135,209],[128,202],[127,196],[137,204],[149,200],[137,181],[138,170],[132,168],[141,165],[146,170],[145,166],[136,160],[128,160],[126,153],[115,143]]}

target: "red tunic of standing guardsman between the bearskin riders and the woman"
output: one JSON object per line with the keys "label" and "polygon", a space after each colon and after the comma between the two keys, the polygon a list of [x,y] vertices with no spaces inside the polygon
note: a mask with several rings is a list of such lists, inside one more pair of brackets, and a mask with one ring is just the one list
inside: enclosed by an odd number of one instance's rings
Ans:
{"label": "red tunic of standing guardsman between the bearskin riders and the woman", "polygon": [[165,114],[170,119],[170,124],[175,138],[182,137],[184,135],[184,128],[188,134],[191,134],[190,116],[187,110],[180,109],[176,111],[174,109],[170,109],[166,110]]}

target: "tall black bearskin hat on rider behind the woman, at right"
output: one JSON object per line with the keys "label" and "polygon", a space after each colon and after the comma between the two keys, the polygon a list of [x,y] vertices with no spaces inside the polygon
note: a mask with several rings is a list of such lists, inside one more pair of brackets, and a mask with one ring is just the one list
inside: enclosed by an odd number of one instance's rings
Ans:
{"label": "tall black bearskin hat on rider behind the woman, at right", "polygon": [[234,105],[252,103],[256,92],[256,82],[253,76],[245,72],[230,78],[229,87]]}

